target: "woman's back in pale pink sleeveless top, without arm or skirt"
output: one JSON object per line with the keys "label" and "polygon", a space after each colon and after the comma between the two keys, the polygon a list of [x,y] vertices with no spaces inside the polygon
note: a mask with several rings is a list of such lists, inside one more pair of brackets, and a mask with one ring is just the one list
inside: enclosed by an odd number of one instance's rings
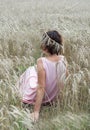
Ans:
{"label": "woman's back in pale pink sleeveless top, without arm or skirt", "polygon": [[43,57],[42,63],[46,74],[46,87],[43,102],[49,102],[52,101],[59,92],[57,80],[61,80],[62,76],[65,75],[66,66],[64,63],[64,56],[59,56],[56,59]]}

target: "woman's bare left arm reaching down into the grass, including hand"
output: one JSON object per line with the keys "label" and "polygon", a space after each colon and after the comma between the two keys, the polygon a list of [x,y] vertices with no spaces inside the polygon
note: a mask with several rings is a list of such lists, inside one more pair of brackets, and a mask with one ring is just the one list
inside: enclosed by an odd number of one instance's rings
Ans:
{"label": "woman's bare left arm reaching down into the grass, including hand", "polygon": [[34,113],[32,113],[33,119],[38,120],[39,112],[42,104],[42,100],[45,93],[45,70],[41,59],[37,60],[37,72],[38,72],[38,87],[36,94],[36,101],[34,105]]}

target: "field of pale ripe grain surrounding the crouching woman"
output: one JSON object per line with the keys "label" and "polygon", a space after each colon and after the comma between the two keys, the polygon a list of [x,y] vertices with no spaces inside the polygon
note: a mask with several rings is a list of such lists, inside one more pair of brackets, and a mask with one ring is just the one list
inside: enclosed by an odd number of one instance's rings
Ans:
{"label": "field of pale ripe grain surrounding the crouching woman", "polygon": [[[15,83],[41,56],[43,32],[64,37],[69,76],[62,101],[33,124]],[[0,130],[90,130],[90,0],[0,0]]]}

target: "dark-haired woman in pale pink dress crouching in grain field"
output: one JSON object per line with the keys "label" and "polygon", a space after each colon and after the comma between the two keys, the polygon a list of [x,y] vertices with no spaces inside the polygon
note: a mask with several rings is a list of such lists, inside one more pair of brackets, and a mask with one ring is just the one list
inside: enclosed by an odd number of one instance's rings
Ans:
{"label": "dark-haired woman in pale pink dress crouching in grain field", "polygon": [[[57,31],[43,34],[41,49],[45,57],[37,60],[36,67],[29,67],[19,81],[22,102],[34,105],[33,120],[39,119],[42,104],[55,101],[67,75],[65,58],[61,55],[62,36]],[[60,83],[59,87],[57,83]]]}

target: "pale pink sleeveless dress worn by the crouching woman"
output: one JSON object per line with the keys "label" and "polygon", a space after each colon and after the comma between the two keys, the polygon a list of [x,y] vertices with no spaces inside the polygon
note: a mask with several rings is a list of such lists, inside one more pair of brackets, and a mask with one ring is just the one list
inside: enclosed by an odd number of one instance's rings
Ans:
{"label": "pale pink sleeveless dress worn by the crouching woman", "polygon": [[[45,94],[42,103],[48,103],[53,101],[59,92],[57,79],[62,82],[65,80],[66,65],[64,56],[60,56],[58,62],[50,61],[45,57],[42,57],[41,59],[46,74]],[[37,85],[38,77],[36,66],[31,66],[20,76],[19,79],[19,91],[22,102],[28,104],[35,103]]]}

